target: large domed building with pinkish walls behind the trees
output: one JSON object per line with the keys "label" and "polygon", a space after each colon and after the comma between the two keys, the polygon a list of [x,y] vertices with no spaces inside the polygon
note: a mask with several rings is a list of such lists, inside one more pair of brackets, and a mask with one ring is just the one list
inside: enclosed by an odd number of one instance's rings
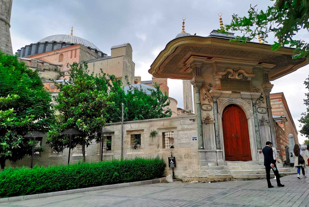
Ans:
{"label": "large domed building with pinkish walls behind the trees", "polygon": [[[167,78],[156,78],[152,76],[152,80],[142,81],[140,76],[134,76],[135,63],[132,61],[132,46],[130,43],[114,45],[111,47],[111,55],[108,56],[102,52],[95,44],[81,37],[73,36],[73,27],[71,34],[51,35],[39,40],[36,43],[25,45],[17,50],[19,59],[33,70],[39,70],[43,84],[53,94],[57,95],[59,91],[53,84],[52,80],[61,82],[70,76],[70,68],[67,63],[83,63],[88,65],[89,73],[101,73],[100,69],[106,74],[115,75],[116,78],[123,80],[125,90],[127,90],[128,77],[129,84],[140,88],[150,94],[148,89],[155,89],[153,85],[157,83],[162,93],[168,95]],[[59,74],[59,71],[63,74]],[[188,81],[187,81],[188,82]],[[186,83],[184,82],[184,85]],[[188,93],[191,95],[191,84],[188,85]],[[185,115],[193,111],[192,95],[191,106],[186,110],[177,108],[177,101],[169,97],[171,101],[169,108],[172,116]]]}

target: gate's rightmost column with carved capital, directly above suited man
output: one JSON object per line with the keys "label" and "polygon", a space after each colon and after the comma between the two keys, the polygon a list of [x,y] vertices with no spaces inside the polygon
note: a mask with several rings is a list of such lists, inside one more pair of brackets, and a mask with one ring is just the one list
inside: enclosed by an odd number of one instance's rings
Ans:
{"label": "gate's rightmost column with carved capital, directly above suited man", "polygon": [[273,147],[277,148],[277,139],[276,139],[276,133],[275,133],[275,124],[273,122],[273,113],[271,111],[271,105],[270,105],[270,99],[269,99],[269,94],[271,92],[271,89],[273,88],[273,84],[269,82],[268,79],[268,74],[264,73],[263,74],[263,79],[264,79],[264,84],[262,84],[265,97],[266,97],[266,105],[267,105],[267,114],[268,114],[268,119],[270,123],[270,135],[271,135],[271,140],[273,143]]}

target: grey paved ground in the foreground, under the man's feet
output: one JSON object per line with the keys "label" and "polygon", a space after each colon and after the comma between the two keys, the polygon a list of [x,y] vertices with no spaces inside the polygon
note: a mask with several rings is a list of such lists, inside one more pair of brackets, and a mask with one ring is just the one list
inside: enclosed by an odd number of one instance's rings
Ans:
{"label": "grey paved ground in the foreground, under the man's feet", "polygon": [[267,188],[266,180],[220,183],[156,183],[64,196],[2,203],[1,207],[24,206],[302,206],[309,207],[309,178],[281,178],[286,185]]}

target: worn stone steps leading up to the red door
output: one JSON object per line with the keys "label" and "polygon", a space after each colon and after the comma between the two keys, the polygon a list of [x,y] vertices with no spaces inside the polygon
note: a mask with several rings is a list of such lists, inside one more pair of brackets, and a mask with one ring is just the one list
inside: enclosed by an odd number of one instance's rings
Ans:
{"label": "worn stone steps leading up to the red door", "polygon": [[[193,170],[190,174],[184,174],[184,181],[199,182],[219,182],[230,180],[252,180],[266,179],[266,171],[263,163],[255,161],[246,162],[225,162],[224,166],[201,166],[199,170]],[[280,176],[293,175],[290,168],[284,168],[282,164],[277,164]],[[220,171],[219,171],[220,170]],[[273,178],[273,171],[270,171],[270,177]]]}

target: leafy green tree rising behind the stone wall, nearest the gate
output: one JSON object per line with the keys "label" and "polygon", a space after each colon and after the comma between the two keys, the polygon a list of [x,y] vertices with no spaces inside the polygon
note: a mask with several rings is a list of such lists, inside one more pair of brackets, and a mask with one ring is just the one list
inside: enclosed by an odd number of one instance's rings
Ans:
{"label": "leafy green tree rising behind the stone wall, nearest the gate", "polygon": [[164,109],[170,105],[168,96],[166,92],[163,95],[157,84],[154,86],[156,90],[149,89],[151,94],[147,95],[142,87],[133,87],[128,83],[129,90],[125,93],[121,80],[117,80],[115,75],[107,75],[107,77],[106,85],[115,94],[112,97],[115,105],[108,110],[107,122],[121,122],[121,103],[124,103],[125,121],[171,117],[171,110]]}

